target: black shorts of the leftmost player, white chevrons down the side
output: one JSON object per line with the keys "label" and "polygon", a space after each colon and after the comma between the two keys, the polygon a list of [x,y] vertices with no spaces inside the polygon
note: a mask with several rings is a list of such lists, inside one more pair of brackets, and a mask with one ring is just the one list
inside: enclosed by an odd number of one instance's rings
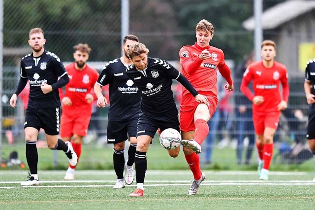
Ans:
{"label": "black shorts of the leftmost player, white chevrons down the side", "polygon": [[55,136],[60,129],[60,107],[30,108],[25,112],[24,128],[32,127],[45,130],[45,134]]}

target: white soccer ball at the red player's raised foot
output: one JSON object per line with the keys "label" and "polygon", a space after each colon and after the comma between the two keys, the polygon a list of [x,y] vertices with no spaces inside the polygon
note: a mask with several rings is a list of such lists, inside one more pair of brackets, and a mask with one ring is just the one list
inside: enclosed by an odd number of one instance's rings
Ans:
{"label": "white soccer ball at the red player's raised foot", "polygon": [[159,136],[159,143],[167,150],[176,149],[181,145],[181,134],[173,128],[167,128]]}

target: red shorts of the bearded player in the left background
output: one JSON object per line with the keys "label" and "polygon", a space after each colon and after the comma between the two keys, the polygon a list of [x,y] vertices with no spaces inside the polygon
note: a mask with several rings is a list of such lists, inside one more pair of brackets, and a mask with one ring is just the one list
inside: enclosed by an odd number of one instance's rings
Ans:
{"label": "red shorts of the bearded player in the left background", "polygon": [[72,137],[73,134],[85,137],[88,133],[91,114],[65,113],[61,116],[60,136]]}

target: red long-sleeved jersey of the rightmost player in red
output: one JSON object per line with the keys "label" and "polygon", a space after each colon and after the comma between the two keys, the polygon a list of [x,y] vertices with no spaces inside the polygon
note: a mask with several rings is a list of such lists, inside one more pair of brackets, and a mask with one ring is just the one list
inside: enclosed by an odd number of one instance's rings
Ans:
{"label": "red long-sleeved jersey of the rightmost player in red", "polygon": [[[251,81],[254,94],[248,89]],[[283,98],[280,95],[280,83],[283,86]],[[282,100],[287,102],[288,87],[287,71],[283,64],[274,62],[273,67],[266,68],[262,61],[257,61],[244,72],[241,90],[251,101],[254,96],[264,98],[261,105],[252,105],[253,111],[272,112],[279,111],[277,106]]]}

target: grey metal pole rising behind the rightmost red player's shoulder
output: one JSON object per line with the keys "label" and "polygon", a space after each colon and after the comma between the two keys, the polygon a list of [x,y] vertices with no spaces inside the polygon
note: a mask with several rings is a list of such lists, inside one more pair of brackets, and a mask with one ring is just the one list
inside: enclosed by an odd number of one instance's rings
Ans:
{"label": "grey metal pole rising behind the rightmost red player's shoulder", "polygon": [[255,60],[261,60],[261,42],[262,42],[262,0],[254,0],[254,18],[255,18],[255,31],[254,31],[254,50]]}

